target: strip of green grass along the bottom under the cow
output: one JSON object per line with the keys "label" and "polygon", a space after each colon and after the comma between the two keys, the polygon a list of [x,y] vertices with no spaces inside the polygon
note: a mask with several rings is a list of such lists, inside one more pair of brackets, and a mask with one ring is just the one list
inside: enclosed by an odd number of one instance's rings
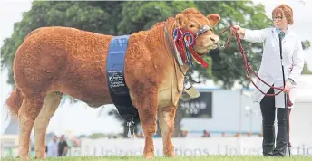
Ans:
{"label": "strip of green grass along the bottom under the cow", "polygon": [[[17,161],[20,159],[3,158],[3,161]],[[31,159],[39,160],[39,159]],[[99,157],[59,157],[59,158],[48,158],[46,161],[111,161],[111,160],[128,160],[128,161],[139,161],[144,160],[141,156],[99,156]],[[175,156],[173,158],[156,157],[154,161],[311,161],[311,156],[287,156],[287,157],[263,157],[263,156]]]}

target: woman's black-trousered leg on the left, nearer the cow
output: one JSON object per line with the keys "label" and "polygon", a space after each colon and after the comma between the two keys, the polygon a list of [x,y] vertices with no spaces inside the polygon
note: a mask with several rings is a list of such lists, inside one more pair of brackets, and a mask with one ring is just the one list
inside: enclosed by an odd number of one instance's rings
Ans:
{"label": "woman's black-trousered leg on the left, nearer the cow", "polygon": [[[268,94],[273,94],[274,90],[268,90]],[[262,128],[263,141],[262,150],[263,156],[273,156],[273,149],[275,143],[275,98],[265,96],[260,102],[262,113]]]}

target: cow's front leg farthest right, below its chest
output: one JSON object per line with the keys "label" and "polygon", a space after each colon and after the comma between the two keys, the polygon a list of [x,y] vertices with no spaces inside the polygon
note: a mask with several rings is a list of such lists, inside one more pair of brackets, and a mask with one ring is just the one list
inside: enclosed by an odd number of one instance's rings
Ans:
{"label": "cow's front leg farthest right, below its chest", "polygon": [[174,147],[171,137],[174,131],[175,112],[176,107],[174,106],[158,109],[158,119],[163,142],[163,154],[168,157],[174,156]]}

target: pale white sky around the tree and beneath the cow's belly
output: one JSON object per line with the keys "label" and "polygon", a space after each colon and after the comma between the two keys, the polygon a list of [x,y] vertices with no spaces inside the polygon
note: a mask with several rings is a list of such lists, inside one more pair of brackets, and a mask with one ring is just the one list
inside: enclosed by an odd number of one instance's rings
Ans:
{"label": "pale white sky around the tree and beneath the cow's belly", "polygon": [[[271,17],[273,8],[281,3],[290,5],[294,11],[294,25],[291,29],[297,33],[301,40],[309,40],[312,42],[312,2],[308,0],[253,0],[256,4],[261,3],[265,5],[266,14]],[[13,25],[15,22],[22,20],[22,13],[31,8],[31,2],[27,0],[0,0],[0,46],[3,40],[10,37],[13,33]],[[305,52],[306,62],[309,68],[312,69],[312,50]],[[1,72],[0,79],[0,105],[5,104],[5,99],[8,97],[11,87],[6,83],[7,70]],[[51,118],[47,132],[54,132],[57,135],[64,133],[91,134],[93,132],[115,133],[121,132],[122,128],[117,120],[106,116],[105,113],[112,109],[112,105],[105,106],[102,111],[104,114],[98,117],[100,109],[89,108],[85,103],[78,103],[70,105],[65,103],[61,105],[55,112],[54,117]],[[7,121],[5,118],[7,111],[1,107],[1,134],[4,132]],[[93,125],[93,126],[91,126]]]}

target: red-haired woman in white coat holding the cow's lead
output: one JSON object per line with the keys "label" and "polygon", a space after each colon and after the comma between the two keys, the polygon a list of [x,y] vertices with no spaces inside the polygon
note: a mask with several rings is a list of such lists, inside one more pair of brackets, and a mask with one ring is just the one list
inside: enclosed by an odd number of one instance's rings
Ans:
{"label": "red-haired woman in white coat holding the cow's lead", "polygon": [[[282,37],[282,53],[286,85],[284,92],[289,94],[292,103],[295,102],[296,82],[304,66],[304,55],[301,41],[297,38],[288,25],[293,24],[293,11],[288,5],[278,5],[272,11],[272,20],[275,27],[261,30],[250,30],[241,28],[239,25],[234,29],[239,33],[240,39],[252,43],[263,43],[263,54],[259,77],[274,87],[283,87],[283,73],[280,62],[279,38]],[[262,81],[257,81],[260,90],[268,94],[278,93],[280,90],[273,90]],[[262,113],[263,142],[262,150],[264,156],[285,156],[288,142],[287,131],[287,110],[285,108],[284,93],[275,97],[264,97],[255,90],[253,93],[254,101],[260,104]],[[295,105],[295,104],[294,104]],[[290,108],[294,107],[291,106]],[[278,135],[275,147],[275,127],[274,121],[277,112]]]}

